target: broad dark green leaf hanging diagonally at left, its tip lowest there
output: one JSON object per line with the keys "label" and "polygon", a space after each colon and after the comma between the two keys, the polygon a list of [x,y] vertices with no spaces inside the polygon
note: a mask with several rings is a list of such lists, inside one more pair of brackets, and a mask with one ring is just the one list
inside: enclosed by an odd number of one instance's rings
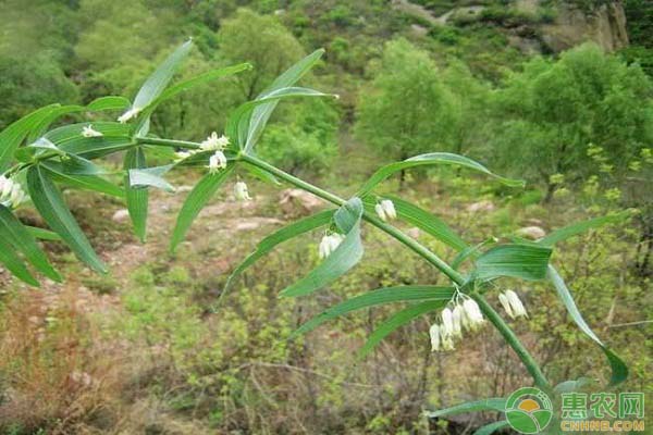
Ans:
{"label": "broad dark green leaf hanging diagonally at left, its tip lowest there", "polygon": [[95,253],[63,201],[61,191],[44,167],[35,165],[27,170],[27,187],[34,206],[48,226],[61,236],[82,261],[98,272],[106,272],[107,268]]}

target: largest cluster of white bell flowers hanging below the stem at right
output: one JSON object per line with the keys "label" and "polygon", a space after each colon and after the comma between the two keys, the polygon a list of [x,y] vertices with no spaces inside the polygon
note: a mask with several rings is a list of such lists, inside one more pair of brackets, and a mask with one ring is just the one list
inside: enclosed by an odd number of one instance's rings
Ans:
{"label": "largest cluster of white bell flowers hanging below the stem at right", "polygon": [[479,304],[469,296],[458,293],[452,303],[453,310],[448,307],[442,310],[441,323],[433,324],[429,331],[434,352],[454,350],[454,338],[463,338],[463,331],[479,330],[485,321]]}

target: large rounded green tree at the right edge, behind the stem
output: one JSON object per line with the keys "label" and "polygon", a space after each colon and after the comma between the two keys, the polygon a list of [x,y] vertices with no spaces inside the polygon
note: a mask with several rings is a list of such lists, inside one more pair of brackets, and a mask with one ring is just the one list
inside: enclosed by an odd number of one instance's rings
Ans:
{"label": "large rounded green tree at the right edge, behind the stem", "polygon": [[623,173],[653,140],[651,82],[593,45],[558,61],[533,59],[494,95],[493,160],[554,190],[554,174],[580,181],[591,145],[605,151],[603,171]]}

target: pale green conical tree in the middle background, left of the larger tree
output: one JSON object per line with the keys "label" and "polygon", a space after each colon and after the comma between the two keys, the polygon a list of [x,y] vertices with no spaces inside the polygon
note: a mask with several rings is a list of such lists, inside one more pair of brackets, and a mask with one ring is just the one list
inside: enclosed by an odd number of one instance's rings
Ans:
{"label": "pale green conical tree in the middle background, left of the larger tree", "polygon": [[360,97],[357,137],[389,159],[452,149],[460,110],[429,54],[398,39],[378,67]]}

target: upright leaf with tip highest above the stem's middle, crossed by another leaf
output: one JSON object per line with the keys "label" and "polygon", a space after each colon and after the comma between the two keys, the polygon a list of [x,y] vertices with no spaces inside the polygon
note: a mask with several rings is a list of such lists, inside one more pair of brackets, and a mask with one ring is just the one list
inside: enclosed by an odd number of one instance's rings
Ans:
{"label": "upright leaf with tip highest above the stem's middle, crossed by another leaf", "polygon": [[[319,49],[291,66],[286,70],[282,75],[276,77],[276,79],[268,87],[266,90],[261,92],[260,96],[257,97],[257,100],[267,99],[267,97],[276,92],[282,88],[287,88],[293,86],[299,78],[301,78],[324,54],[323,49]],[[272,115],[274,108],[279,103],[278,100],[272,100],[267,102],[266,104],[257,107],[251,113],[251,117],[248,123],[247,135],[246,137],[241,137],[239,146],[245,148],[245,151],[249,152],[258,141],[259,137],[263,133],[263,128],[266,128],[266,124],[268,120]]]}

